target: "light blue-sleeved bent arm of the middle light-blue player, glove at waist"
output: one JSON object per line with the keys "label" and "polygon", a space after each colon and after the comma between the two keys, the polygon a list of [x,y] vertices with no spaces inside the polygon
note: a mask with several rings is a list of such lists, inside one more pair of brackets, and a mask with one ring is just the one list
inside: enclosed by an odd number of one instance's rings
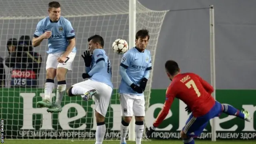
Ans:
{"label": "light blue-sleeved bent arm of the middle light-blue player, glove at waist", "polygon": [[90,78],[93,74],[100,71],[102,68],[105,67],[105,58],[104,53],[100,49],[95,49],[93,51],[93,57],[96,61],[96,66],[94,66],[90,72],[86,72],[82,75],[83,78]]}

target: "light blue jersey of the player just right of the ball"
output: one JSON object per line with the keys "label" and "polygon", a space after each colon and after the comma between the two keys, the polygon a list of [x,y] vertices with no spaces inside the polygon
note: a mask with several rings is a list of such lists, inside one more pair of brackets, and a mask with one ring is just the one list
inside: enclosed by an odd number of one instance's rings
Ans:
{"label": "light blue jersey of the player just right of the ball", "polygon": [[132,90],[130,85],[134,83],[139,86],[142,78],[146,77],[148,79],[149,71],[152,69],[150,51],[140,52],[135,47],[131,48],[122,57],[120,67],[122,67],[120,70],[126,69],[128,77],[122,77],[119,93],[143,95]]}

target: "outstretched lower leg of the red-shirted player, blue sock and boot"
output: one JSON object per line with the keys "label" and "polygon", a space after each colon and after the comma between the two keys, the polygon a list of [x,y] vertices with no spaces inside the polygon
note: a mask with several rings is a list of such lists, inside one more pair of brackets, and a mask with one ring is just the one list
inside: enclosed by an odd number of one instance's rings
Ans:
{"label": "outstretched lower leg of the red-shirted player, blue sock and boot", "polygon": [[236,116],[248,122],[252,119],[247,110],[240,111],[229,104],[222,104],[222,112],[231,116]]}

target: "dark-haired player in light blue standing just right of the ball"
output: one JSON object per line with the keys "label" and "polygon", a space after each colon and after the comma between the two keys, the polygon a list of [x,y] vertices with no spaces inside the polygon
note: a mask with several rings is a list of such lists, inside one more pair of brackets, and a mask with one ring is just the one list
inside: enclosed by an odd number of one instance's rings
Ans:
{"label": "dark-haired player in light blue standing just right of the ball", "polygon": [[150,38],[148,30],[139,30],[136,33],[135,47],[128,50],[122,57],[119,86],[119,96],[122,111],[120,126],[120,144],[126,144],[126,135],[132,116],[135,116],[136,144],[141,143],[144,131],[145,100],[144,90],[152,69],[150,51],[146,50]]}

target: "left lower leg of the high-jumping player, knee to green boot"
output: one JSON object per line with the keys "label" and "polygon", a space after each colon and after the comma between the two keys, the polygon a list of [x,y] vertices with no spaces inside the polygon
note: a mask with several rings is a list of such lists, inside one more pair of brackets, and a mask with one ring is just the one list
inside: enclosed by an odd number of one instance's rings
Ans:
{"label": "left lower leg of the high-jumping player, knee to green boot", "polygon": [[50,96],[54,90],[54,78],[56,76],[55,68],[48,68],[46,70],[46,82],[44,84],[44,100],[37,102],[37,106],[40,108],[50,108],[52,103],[50,102]]}

